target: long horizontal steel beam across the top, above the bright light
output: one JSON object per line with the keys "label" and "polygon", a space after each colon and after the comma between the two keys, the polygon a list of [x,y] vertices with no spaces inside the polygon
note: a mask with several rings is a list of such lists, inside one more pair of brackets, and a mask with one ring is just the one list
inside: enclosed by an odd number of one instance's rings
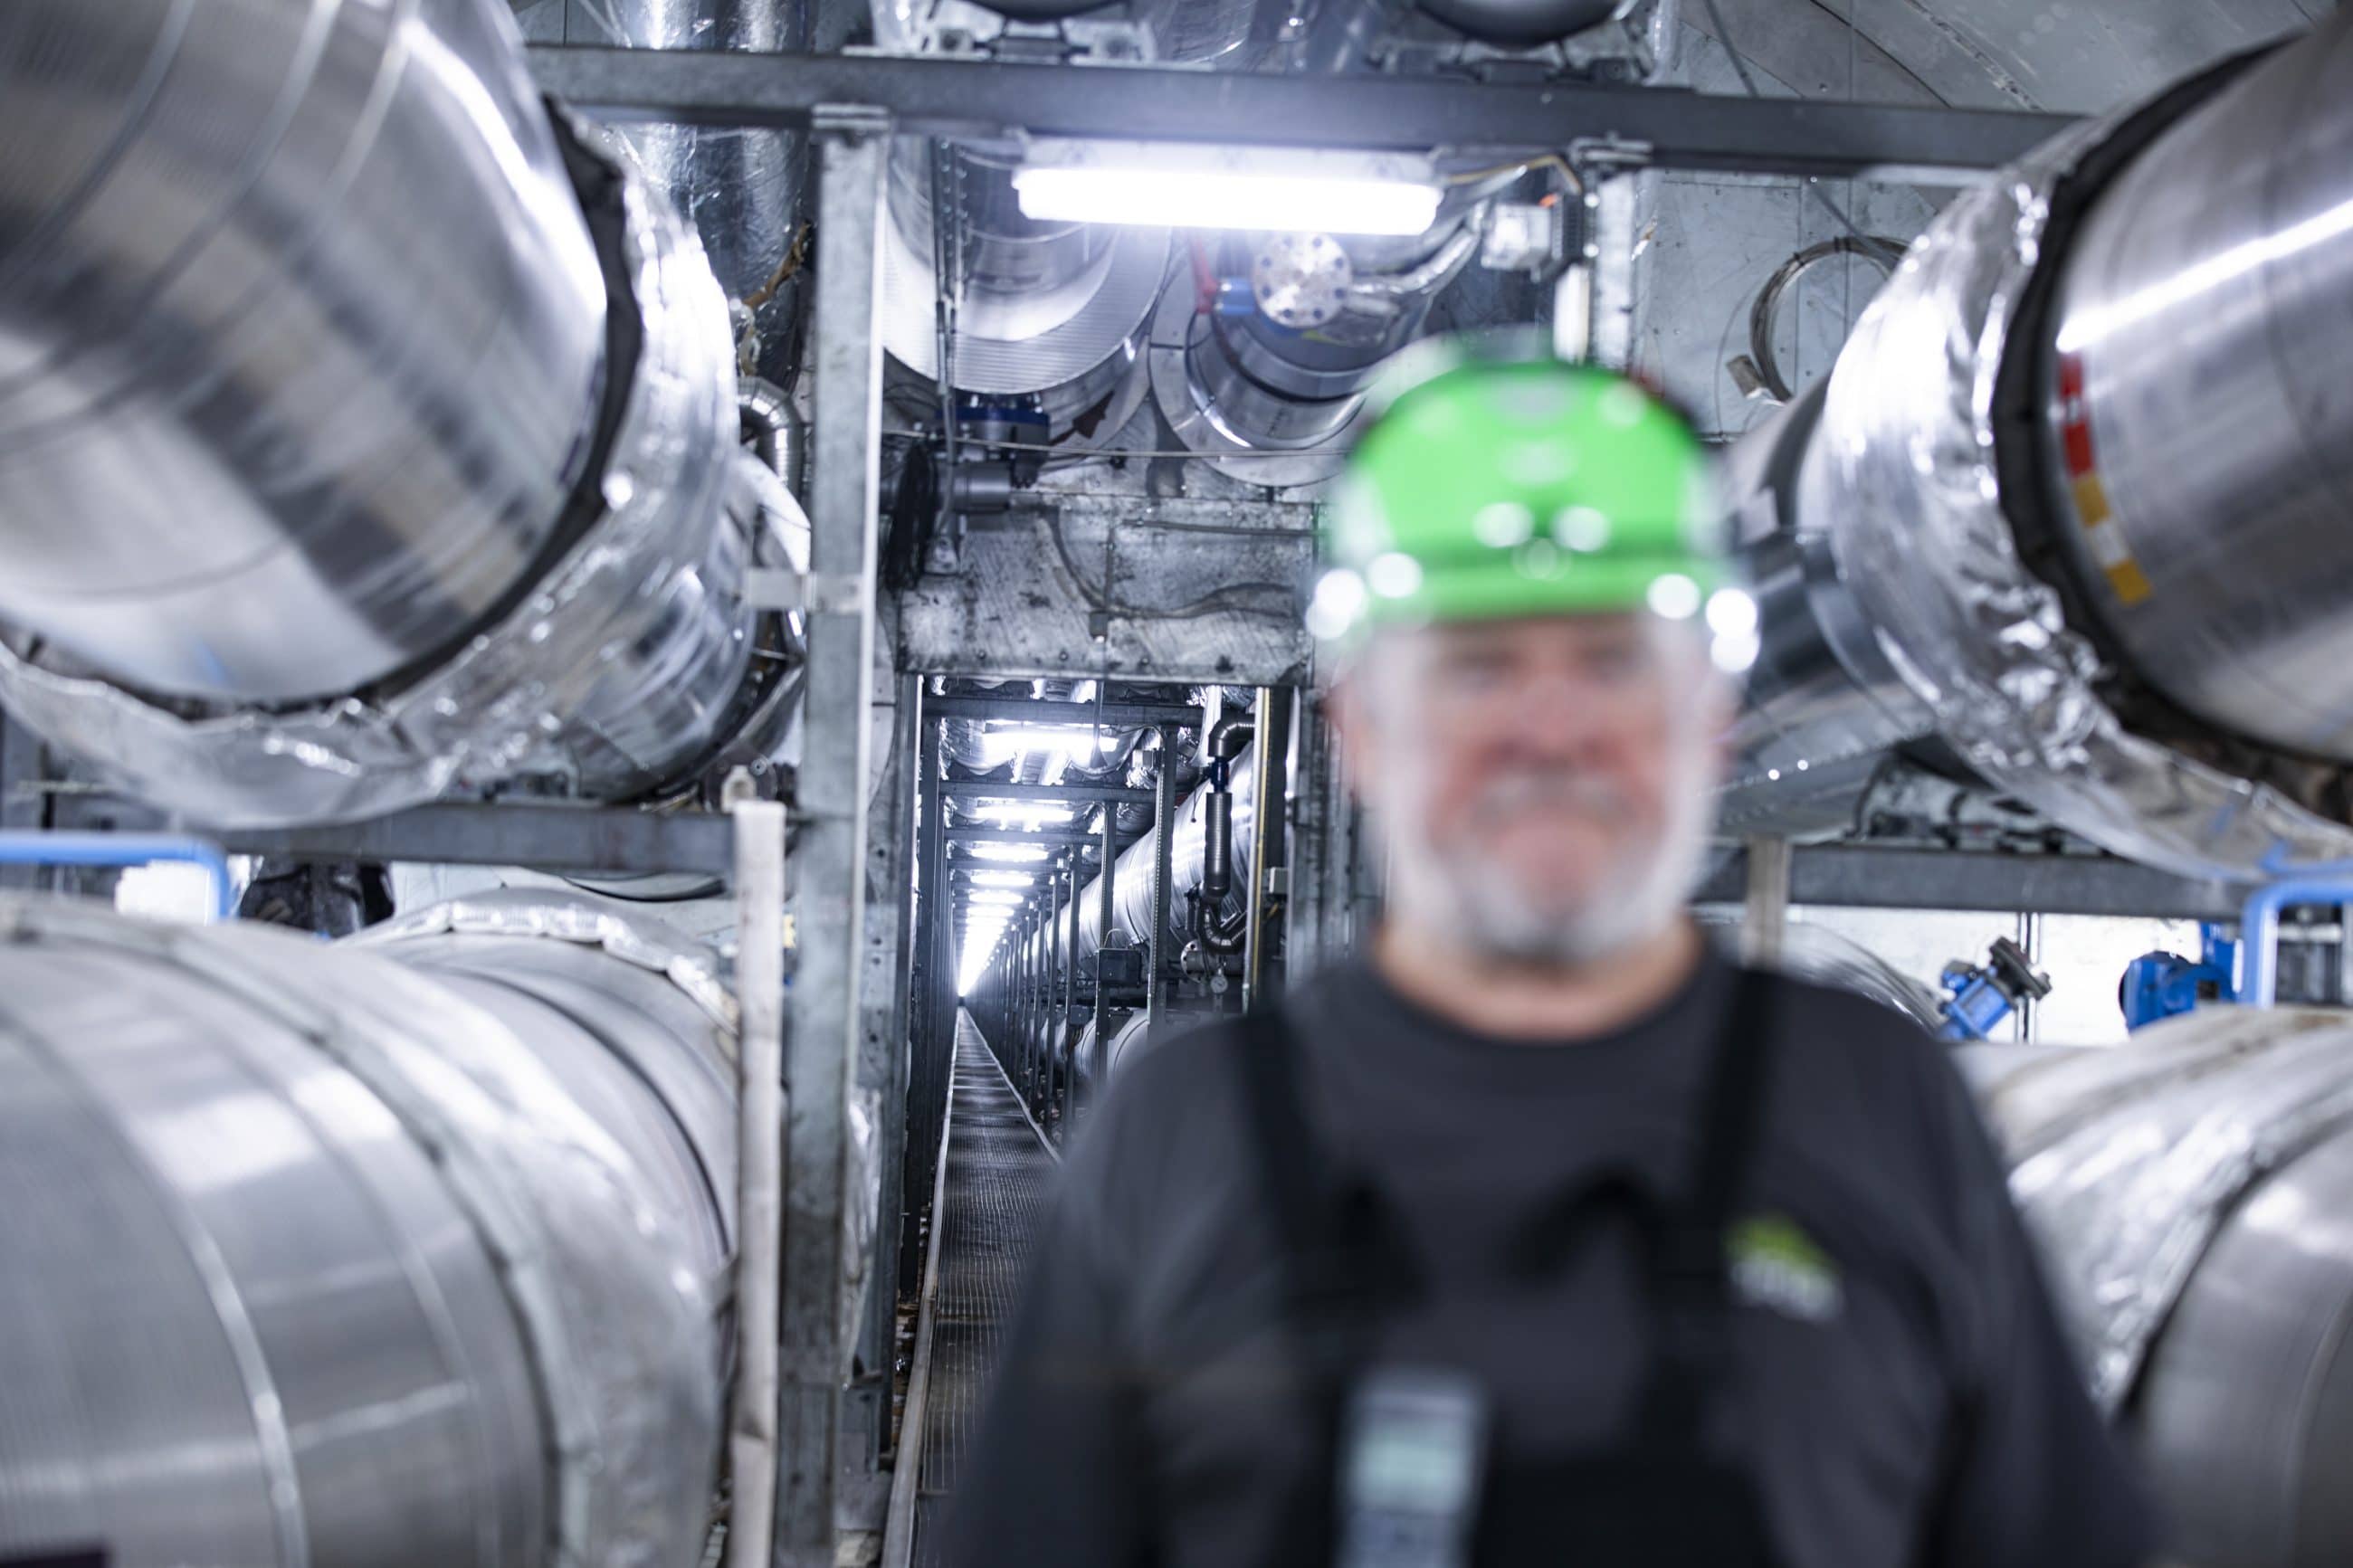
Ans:
{"label": "long horizontal steel beam across the top, above the bright light", "polygon": [[807,125],[824,103],[873,103],[932,136],[1118,136],[1365,150],[1602,148],[1668,169],[1814,174],[1998,169],[2066,115],[1680,87],[1402,75],[1249,75],[885,54],[722,54],[534,45],[539,85],[607,120]]}

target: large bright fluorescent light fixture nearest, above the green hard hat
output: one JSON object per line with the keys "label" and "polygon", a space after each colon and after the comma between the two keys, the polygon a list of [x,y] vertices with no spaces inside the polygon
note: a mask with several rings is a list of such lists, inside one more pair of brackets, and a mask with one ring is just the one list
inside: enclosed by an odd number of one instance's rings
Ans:
{"label": "large bright fluorescent light fixture nearest, above the green hard hat", "polygon": [[1014,172],[1047,223],[1419,235],[1438,219],[1424,158],[1181,141],[1038,139]]}

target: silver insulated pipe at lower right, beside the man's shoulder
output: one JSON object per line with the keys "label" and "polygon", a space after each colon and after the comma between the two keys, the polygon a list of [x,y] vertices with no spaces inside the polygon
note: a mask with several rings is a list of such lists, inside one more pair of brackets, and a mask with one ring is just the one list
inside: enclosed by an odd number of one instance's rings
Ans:
{"label": "silver insulated pipe at lower right, beside the man's shoulder", "polygon": [[2353,1561],[2353,1025],[2202,1009],[1965,1053],[2061,1312],[2198,1568]]}

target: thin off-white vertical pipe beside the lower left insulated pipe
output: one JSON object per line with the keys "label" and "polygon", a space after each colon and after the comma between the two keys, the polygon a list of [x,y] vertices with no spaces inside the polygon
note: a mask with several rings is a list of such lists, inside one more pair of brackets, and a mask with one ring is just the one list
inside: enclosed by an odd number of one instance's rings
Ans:
{"label": "thin off-white vertical pipe beside the lower left insulated pipe", "polygon": [[784,806],[739,799],[736,1392],[727,1568],[769,1568],[776,1530],[776,1288],[784,1253]]}

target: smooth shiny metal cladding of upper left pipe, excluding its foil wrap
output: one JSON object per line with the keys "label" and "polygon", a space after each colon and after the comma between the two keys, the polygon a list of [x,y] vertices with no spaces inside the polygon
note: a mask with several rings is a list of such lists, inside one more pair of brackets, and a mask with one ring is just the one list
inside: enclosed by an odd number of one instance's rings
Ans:
{"label": "smooth shiny metal cladding of upper left pipe, excluding its foil wrap", "polygon": [[0,21],[0,618],[174,696],[351,691],[553,543],[605,280],[504,7]]}

